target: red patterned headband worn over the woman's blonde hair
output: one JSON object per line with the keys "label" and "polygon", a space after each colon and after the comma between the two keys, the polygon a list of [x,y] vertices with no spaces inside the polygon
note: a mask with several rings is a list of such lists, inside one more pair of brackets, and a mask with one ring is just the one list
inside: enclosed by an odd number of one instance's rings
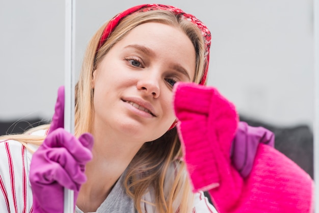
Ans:
{"label": "red patterned headband worn over the woman's blonde hair", "polygon": [[104,42],[109,38],[110,34],[113,32],[115,27],[118,25],[118,23],[122,20],[122,18],[135,13],[135,12],[144,12],[144,11],[150,11],[150,10],[167,10],[172,11],[175,15],[178,15],[181,18],[187,19],[194,23],[198,28],[201,30],[204,42],[205,42],[205,70],[203,77],[200,81],[201,85],[204,85],[207,78],[207,71],[208,71],[208,63],[209,63],[209,48],[210,48],[210,32],[207,29],[206,25],[203,24],[200,20],[198,20],[195,16],[185,13],[182,10],[175,8],[173,6],[168,5],[157,5],[157,4],[146,4],[146,5],[139,5],[132,8],[129,8],[118,15],[116,15],[112,20],[110,20],[109,24],[105,27],[103,34],[100,38],[99,45],[97,47],[97,51],[101,48],[101,46],[104,44]]}

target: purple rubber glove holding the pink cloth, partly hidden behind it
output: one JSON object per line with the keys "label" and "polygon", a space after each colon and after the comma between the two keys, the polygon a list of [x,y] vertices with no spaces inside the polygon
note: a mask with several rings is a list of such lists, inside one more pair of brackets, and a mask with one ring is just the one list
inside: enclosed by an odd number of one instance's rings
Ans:
{"label": "purple rubber glove holding the pink cloth, partly hidden behind it", "polygon": [[263,127],[252,127],[240,122],[231,147],[231,162],[242,177],[247,177],[253,167],[259,143],[274,147],[273,132]]}

